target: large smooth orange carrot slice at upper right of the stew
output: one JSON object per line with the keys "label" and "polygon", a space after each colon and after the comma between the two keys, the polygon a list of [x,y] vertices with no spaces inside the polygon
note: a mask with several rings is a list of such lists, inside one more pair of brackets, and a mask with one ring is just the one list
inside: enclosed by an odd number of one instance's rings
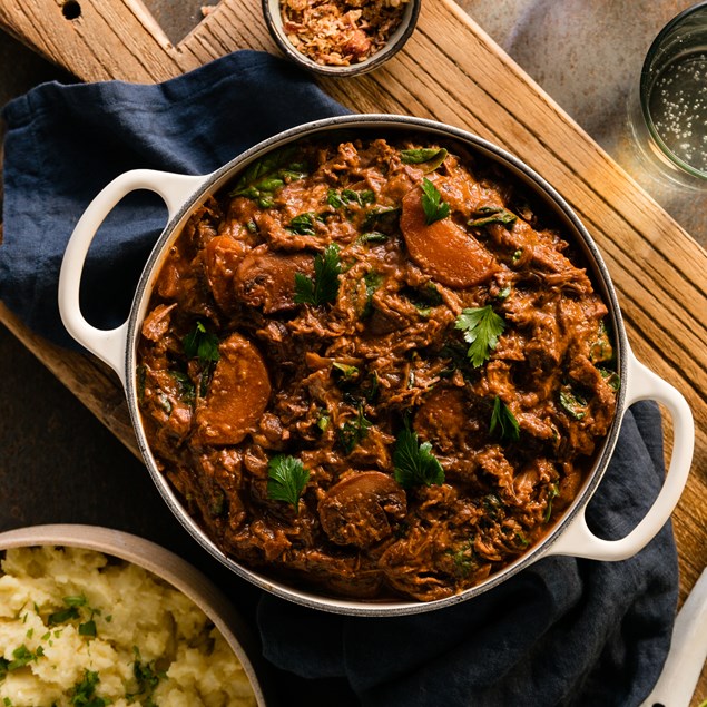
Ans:
{"label": "large smooth orange carrot slice at upper right of the stew", "polygon": [[400,227],[412,259],[443,285],[472,287],[498,271],[493,256],[451,218],[428,226],[419,186],[403,198]]}

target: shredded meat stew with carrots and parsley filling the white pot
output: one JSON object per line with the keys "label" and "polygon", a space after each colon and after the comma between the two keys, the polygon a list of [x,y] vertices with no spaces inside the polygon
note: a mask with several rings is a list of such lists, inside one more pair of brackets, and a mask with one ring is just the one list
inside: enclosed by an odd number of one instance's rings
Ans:
{"label": "shredded meat stew with carrots and parsley filling the white pot", "polygon": [[333,132],[251,164],[164,258],[137,389],[229,557],[431,601],[542,539],[607,435],[607,306],[519,181],[453,140]]}

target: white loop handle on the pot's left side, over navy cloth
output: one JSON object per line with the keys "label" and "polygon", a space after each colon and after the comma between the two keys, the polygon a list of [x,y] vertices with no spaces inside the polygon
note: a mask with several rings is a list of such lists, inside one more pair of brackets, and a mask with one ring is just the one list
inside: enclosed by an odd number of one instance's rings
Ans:
{"label": "white loop handle on the pot's left side, over navy cloth", "polygon": [[86,255],[108,214],[130,192],[148,189],[167,205],[169,219],[204,183],[205,176],[177,175],[154,169],[134,169],[116,177],[88,205],[69,238],[59,272],[59,313],[76,341],[107,363],[125,386],[128,322],[112,330],[91,326],[81,314],[79,288]]}

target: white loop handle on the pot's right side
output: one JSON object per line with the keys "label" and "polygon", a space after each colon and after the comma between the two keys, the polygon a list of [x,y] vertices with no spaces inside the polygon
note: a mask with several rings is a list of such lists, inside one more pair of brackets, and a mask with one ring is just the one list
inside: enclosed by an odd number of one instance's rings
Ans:
{"label": "white loop handle on the pot's right side", "polygon": [[695,445],[695,423],[685,397],[669,383],[647,369],[629,354],[629,387],[626,407],[639,400],[655,400],[662,403],[672,418],[672,455],[665,482],[658,498],[646,517],[625,538],[602,540],[587,526],[586,507],[548,549],[547,554],[570,554],[590,560],[626,560],[645,548],[660,531],[677,505],[693,461]]}

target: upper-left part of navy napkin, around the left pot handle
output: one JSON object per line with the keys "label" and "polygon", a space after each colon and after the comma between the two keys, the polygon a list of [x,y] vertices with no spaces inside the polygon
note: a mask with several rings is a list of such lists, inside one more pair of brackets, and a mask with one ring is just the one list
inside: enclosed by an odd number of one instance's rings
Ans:
{"label": "upper-left part of navy napkin, around the left pot handle", "polygon": [[[240,51],[157,86],[45,84],[3,109],[3,245],[0,300],[33,331],[65,346],[57,278],[66,244],[91,199],[129,169],[209,174],[261,140],[348,112],[306,75],[264,52]],[[166,210],[145,192],[124,199],[98,232],[81,283],[81,311],[112,328]]]}

